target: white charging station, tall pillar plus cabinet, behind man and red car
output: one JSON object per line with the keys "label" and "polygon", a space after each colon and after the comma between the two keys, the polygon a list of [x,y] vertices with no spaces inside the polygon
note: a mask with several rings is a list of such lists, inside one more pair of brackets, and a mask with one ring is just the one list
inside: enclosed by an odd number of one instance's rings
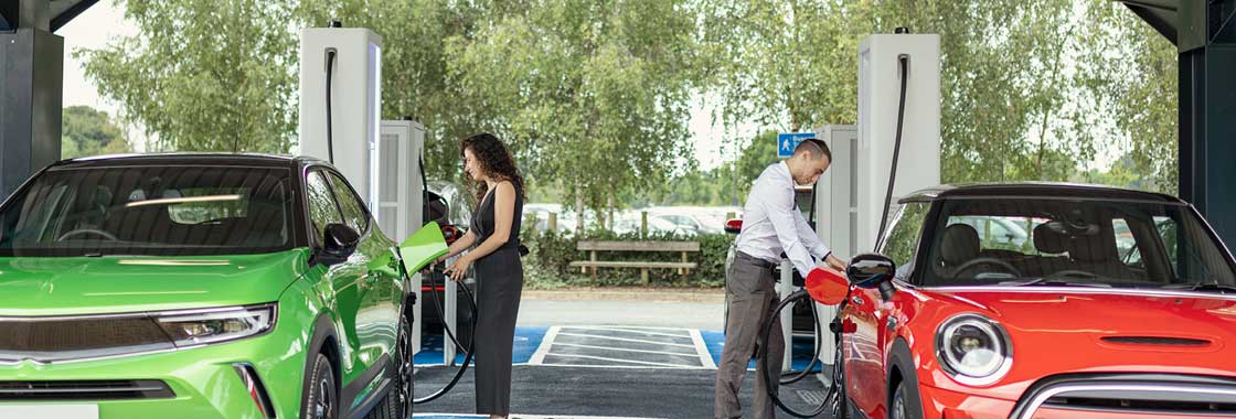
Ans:
{"label": "white charging station, tall pillar plus cabinet, behind man and red car", "polygon": [[[858,126],[816,130],[833,152],[832,167],[817,183],[816,231],[838,255],[875,248],[896,147],[901,57],[907,57],[908,79],[889,219],[899,215],[899,199],[939,184],[939,35],[868,36],[859,43]],[[816,303],[816,315],[827,325],[837,308]],[[832,365],[834,342],[821,340],[818,357]]]}

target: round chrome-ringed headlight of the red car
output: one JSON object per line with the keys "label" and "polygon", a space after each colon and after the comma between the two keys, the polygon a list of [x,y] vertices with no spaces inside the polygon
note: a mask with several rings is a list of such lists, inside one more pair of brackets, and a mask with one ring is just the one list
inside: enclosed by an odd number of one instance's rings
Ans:
{"label": "round chrome-ringed headlight of the red car", "polygon": [[974,313],[959,314],[936,329],[936,357],[959,383],[986,386],[1012,367],[1012,342],[995,320]]}

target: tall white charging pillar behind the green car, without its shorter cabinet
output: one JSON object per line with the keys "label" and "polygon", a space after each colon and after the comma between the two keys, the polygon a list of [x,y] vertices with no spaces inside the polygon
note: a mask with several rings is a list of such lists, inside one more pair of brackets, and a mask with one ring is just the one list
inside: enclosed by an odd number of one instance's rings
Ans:
{"label": "tall white charging pillar behind the green car, without its shorter cabinet", "polygon": [[300,31],[298,153],[332,159],[331,163],[356,188],[377,219],[382,216],[377,182],[381,173],[377,156],[381,112],[382,37],[358,27]]}

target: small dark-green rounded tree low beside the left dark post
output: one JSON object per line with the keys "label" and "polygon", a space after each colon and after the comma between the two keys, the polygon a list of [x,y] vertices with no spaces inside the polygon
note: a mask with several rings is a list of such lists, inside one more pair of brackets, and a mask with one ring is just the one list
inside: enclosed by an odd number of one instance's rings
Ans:
{"label": "small dark-green rounded tree low beside the left dark post", "polygon": [[108,112],[90,106],[64,108],[61,114],[61,157],[127,153],[129,141]]}

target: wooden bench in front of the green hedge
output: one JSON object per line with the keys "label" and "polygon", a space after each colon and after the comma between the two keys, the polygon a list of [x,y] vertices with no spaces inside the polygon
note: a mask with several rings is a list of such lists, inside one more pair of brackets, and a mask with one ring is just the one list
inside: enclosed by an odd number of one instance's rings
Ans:
{"label": "wooden bench in front of the green hedge", "polygon": [[[580,268],[580,273],[592,268],[592,282],[597,282],[597,268],[639,268],[639,278],[646,286],[648,269],[679,269],[679,274],[686,277],[688,269],[698,266],[687,262],[687,253],[698,252],[700,242],[695,241],[580,241],[576,250],[587,251],[587,261],[571,262],[571,267]],[[598,261],[597,252],[680,252],[682,262],[653,262],[653,261]]]}

